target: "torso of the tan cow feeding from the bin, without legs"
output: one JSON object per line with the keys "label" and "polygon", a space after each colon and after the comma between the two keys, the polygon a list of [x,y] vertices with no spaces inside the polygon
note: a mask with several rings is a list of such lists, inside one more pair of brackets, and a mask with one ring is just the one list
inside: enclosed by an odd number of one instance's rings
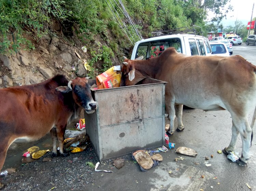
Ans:
{"label": "torso of the tan cow feeding from the bin, without legs", "polygon": [[[159,63],[162,64],[156,79],[169,82],[166,93],[167,96],[174,95],[175,103],[208,110],[219,106],[227,109],[227,102],[232,102],[232,99],[252,99],[255,102],[256,67],[241,56],[184,56],[174,53]],[[251,93],[243,93],[250,89]]]}

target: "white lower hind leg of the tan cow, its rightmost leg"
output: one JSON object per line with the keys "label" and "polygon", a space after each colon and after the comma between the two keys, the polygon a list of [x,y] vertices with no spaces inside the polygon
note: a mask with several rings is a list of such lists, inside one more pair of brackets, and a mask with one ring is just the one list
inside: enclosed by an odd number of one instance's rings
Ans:
{"label": "white lower hind leg of the tan cow, its rightmost leg", "polygon": [[236,161],[241,165],[247,164],[250,159],[250,144],[251,144],[251,135],[252,128],[249,125],[247,118],[236,118],[233,120],[234,125],[237,127],[237,130],[240,133],[242,139],[242,154],[241,157]]}

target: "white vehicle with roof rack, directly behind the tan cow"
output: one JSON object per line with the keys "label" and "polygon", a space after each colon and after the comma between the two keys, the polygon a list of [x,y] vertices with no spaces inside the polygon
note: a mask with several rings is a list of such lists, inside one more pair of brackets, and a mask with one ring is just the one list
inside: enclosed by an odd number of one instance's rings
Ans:
{"label": "white vehicle with roof rack, directly behind the tan cow", "polygon": [[189,30],[187,27],[182,27],[169,31],[152,32],[151,36],[154,37],[142,39],[135,43],[131,59],[140,56],[143,56],[144,59],[159,56],[169,47],[174,47],[177,52],[188,56],[212,55],[208,39],[197,35],[199,33],[201,32],[196,32],[194,26],[193,30]]}

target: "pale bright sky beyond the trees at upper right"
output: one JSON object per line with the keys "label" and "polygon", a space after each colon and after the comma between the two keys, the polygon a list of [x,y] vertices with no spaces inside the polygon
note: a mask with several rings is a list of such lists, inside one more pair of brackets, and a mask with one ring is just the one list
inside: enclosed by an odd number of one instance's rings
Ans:
{"label": "pale bright sky beyond the trees at upper right", "polygon": [[[223,27],[226,28],[229,25],[234,25],[236,19],[238,21],[242,21],[243,24],[247,25],[248,21],[251,20],[253,3],[253,17],[256,17],[256,0],[231,0],[231,5],[233,5],[233,11],[228,12],[227,19],[222,20]],[[211,18],[211,14],[209,14],[208,18]]]}

